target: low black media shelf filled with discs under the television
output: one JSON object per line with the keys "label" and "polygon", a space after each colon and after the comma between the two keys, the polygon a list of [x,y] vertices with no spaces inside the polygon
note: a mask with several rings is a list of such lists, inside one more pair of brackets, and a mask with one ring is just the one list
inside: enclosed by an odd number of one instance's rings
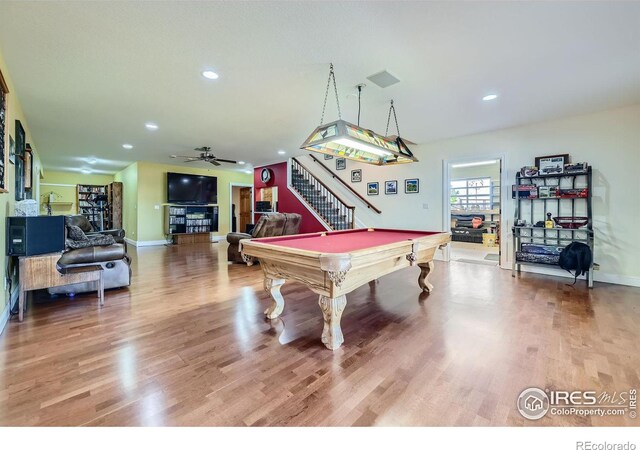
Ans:
{"label": "low black media shelf filled with discs under the television", "polygon": [[165,205],[165,234],[197,234],[218,231],[217,206]]}

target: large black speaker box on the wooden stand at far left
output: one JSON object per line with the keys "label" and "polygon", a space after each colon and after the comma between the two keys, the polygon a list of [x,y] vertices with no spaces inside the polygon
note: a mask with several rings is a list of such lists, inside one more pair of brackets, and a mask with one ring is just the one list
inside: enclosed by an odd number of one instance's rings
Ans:
{"label": "large black speaker box on the wooden stand at far left", "polygon": [[64,236],[64,216],[7,217],[7,255],[61,252]]}

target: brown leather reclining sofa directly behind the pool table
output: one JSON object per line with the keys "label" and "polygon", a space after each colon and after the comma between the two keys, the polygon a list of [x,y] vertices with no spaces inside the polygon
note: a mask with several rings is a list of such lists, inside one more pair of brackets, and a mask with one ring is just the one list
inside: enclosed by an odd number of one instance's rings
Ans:
{"label": "brown leather reclining sofa directly behind the pool table", "polygon": [[229,233],[227,234],[227,261],[244,263],[240,254],[240,240],[261,237],[288,236],[298,234],[302,216],[295,213],[269,213],[263,214],[251,234]]}

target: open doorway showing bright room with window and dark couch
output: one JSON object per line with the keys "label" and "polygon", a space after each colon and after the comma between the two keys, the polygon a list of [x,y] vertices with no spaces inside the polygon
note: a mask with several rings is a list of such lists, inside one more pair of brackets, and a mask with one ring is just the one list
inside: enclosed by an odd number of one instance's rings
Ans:
{"label": "open doorway showing bright room with window and dark couch", "polygon": [[445,229],[449,259],[499,266],[502,243],[503,157],[445,161]]}

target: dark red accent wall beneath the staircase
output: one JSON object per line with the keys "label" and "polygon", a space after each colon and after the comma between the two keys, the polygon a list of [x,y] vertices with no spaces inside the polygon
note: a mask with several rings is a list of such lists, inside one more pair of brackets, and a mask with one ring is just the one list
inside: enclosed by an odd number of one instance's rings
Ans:
{"label": "dark red accent wall beneath the staircase", "polygon": [[[268,183],[260,180],[260,172],[262,169],[271,169],[273,175]],[[300,233],[313,233],[316,231],[326,231],[326,228],[316,219],[298,197],[293,195],[287,186],[287,163],[271,164],[270,166],[258,167],[253,170],[253,186],[255,187],[255,201],[260,200],[260,188],[278,187],[278,212],[298,213],[302,216],[300,223]],[[254,205],[255,208],[255,205]],[[254,223],[260,217],[260,213],[254,216]]]}

